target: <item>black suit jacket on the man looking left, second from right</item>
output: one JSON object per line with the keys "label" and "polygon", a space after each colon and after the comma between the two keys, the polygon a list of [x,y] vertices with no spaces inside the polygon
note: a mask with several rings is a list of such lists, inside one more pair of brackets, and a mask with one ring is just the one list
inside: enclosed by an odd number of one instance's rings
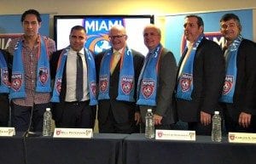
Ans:
{"label": "black suit jacket on the man looking left, second from right", "polygon": [[[178,68],[182,64],[183,56]],[[178,117],[183,122],[199,122],[201,111],[213,114],[219,108],[225,76],[224,56],[216,42],[203,38],[195,52],[192,100],[177,99]]]}

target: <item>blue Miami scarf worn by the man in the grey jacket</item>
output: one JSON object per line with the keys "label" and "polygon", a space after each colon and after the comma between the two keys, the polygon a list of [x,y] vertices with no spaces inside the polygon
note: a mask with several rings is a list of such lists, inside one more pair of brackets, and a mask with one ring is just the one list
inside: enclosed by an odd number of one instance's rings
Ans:
{"label": "blue Miami scarf worn by the man in the grey jacket", "polygon": [[137,105],[156,105],[156,88],[158,78],[158,62],[163,47],[159,44],[154,52],[149,52],[138,80]]}

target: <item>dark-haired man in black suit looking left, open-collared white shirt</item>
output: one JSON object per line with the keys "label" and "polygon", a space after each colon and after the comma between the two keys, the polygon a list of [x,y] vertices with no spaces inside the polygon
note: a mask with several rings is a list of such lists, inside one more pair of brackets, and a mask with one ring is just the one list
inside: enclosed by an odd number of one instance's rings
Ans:
{"label": "dark-haired man in black suit looking left, open-collared white shirt", "polygon": [[204,37],[201,17],[188,15],[183,26],[187,47],[178,65],[178,117],[196,134],[211,135],[224,83],[224,57],[218,44]]}

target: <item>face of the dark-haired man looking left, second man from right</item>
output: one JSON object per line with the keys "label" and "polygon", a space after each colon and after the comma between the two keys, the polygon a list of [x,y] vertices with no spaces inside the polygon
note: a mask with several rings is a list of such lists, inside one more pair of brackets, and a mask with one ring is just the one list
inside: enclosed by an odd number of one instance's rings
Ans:
{"label": "face of the dark-haired man looking left, second man from right", "polygon": [[183,27],[184,27],[184,37],[189,42],[195,42],[195,40],[203,32],[203,27],[198,26],[196,17],[186,18]]}

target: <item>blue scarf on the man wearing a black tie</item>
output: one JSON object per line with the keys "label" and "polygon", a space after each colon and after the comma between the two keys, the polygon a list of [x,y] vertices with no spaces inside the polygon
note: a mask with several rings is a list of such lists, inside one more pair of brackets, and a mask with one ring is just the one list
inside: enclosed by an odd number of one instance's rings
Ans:
{"label": "blue scarf on the man wearing a black tie", "polygon": [[[67,61],[67,54],[70,47],[65,48],[60,55],[59,62],[58,62],[58,68],[56,71],[55,76],[55,85],[54,85],[54,91],[53,96],[51,98],[51,102],[60,102],[60,93],[61,93],[61,82],[62,82],[62,76],[64,71],[64,66]],[[90,92],[90,105],[97,105],[96,100],[96,67],[95,67],[95,61],[90,53],[90,51],[87,48],[84,48],[84,57],[86,59],[86,64],[88,68],[88,88]]]}

